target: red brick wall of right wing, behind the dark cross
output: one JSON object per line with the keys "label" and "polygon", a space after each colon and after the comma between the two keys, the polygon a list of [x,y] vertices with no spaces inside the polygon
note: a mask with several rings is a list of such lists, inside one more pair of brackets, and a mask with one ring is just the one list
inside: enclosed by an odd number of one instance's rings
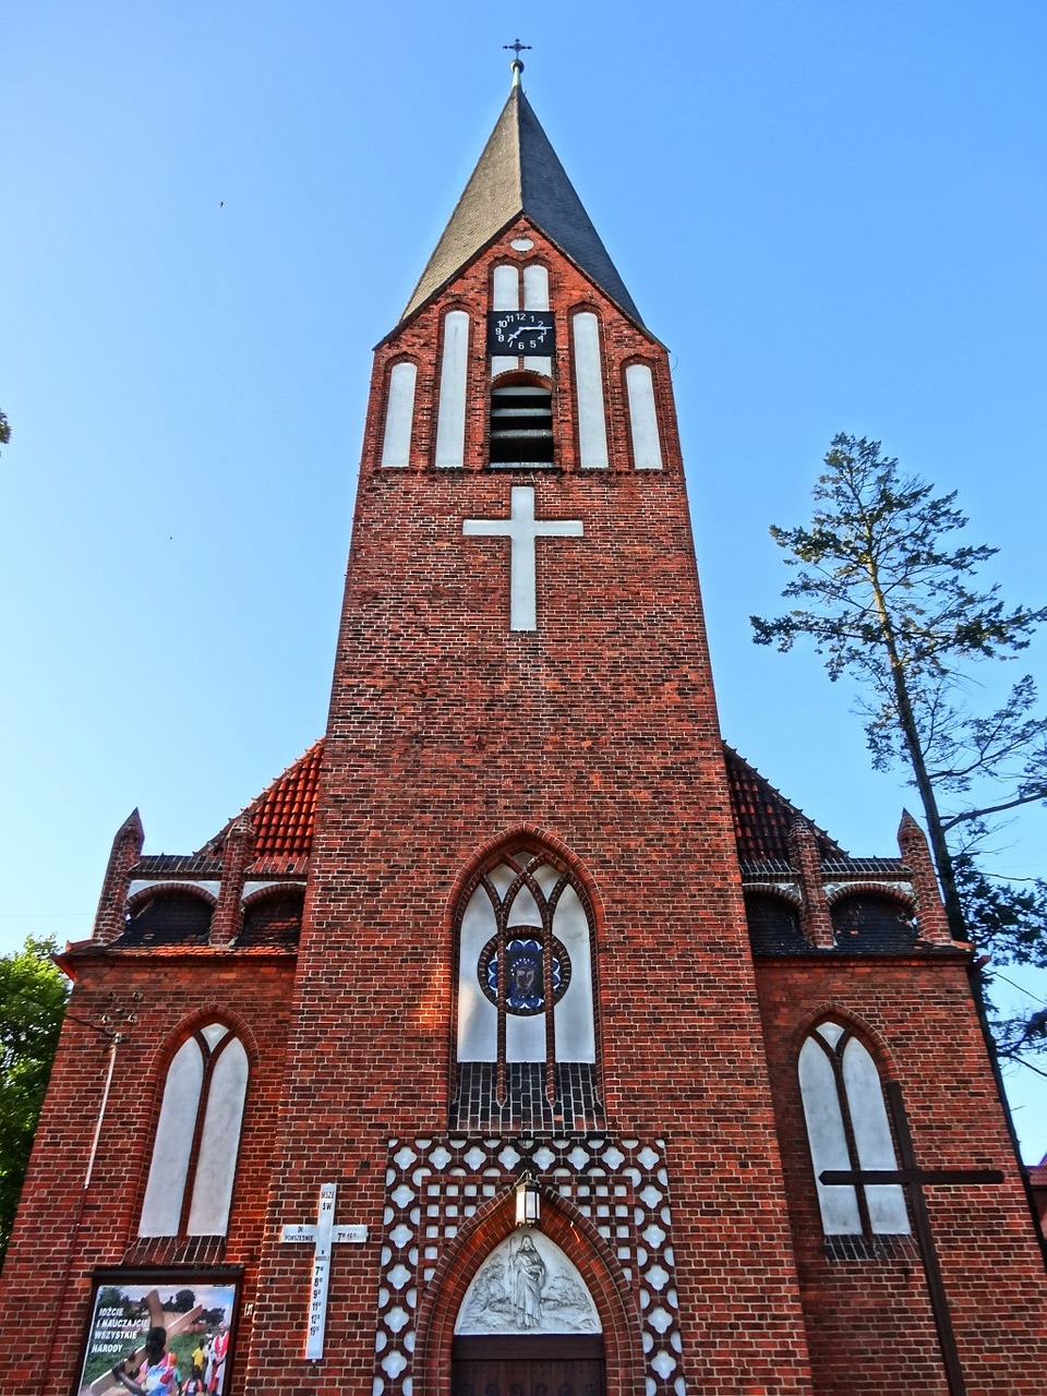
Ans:
{"label": "red brick wall of right wing, behind the dark cross", "polygon": [[928,1187],[969,1393],[1033,1392],[1047,1371],[1044,1276],[963,953],[761,959],[761,1016],[815,1390],[946,1392],[921,1266],[825,1255],[797,1082],[800,1044],[832,1016],[900,1083],[924,1168],[1004,1168],[1004,1185]]}

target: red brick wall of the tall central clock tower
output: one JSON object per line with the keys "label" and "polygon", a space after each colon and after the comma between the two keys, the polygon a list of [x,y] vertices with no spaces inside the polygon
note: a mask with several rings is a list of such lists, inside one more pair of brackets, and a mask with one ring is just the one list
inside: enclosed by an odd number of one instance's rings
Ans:
{"label": "red brick wall of the tall central clock tower", "polygon": [[[484,468],[487,286],[521,232],[558,315],[551,472]],[[582,304],[609,346],[607,472],[575,469],[564,313]],[[475,328],[466,466],[437,470],[433,345],[451,306]],[[387,364],[405,353],[419,360],[412,466],[381,469]],[[637,356],[655,373],[662,472],[631,468],[623,370]],[[537,544],[535,632],[508,630],[507,542],[462,536],[463,518],[505,517],[519,483],[539,518],[585,529]],[[674,1160],[683,1372],[706,1393],[807,1390],[667,359],[524,223],[376,356],[269,1235],[311,1215],[325,1180],[342,1184],[339,1220],[376,1234],[387,1138],[447,1128],[452,889],[514,829],[570,850],[593,889],[607,1129],[658,1134]],[[286,1249],[264,1256],[267,1323],[302,1312],[309,1268]],[[328,1335],[362,1390],[377,1276],[366,1248],[345,1251]],[[451,1295],[426,1302],[452,1321]],[[268,1358],[248,1375],[262,1371]],[[289,1362],[278,1385],[300,1372]],[[637,1374],[609,1379],[627,1390]]]}

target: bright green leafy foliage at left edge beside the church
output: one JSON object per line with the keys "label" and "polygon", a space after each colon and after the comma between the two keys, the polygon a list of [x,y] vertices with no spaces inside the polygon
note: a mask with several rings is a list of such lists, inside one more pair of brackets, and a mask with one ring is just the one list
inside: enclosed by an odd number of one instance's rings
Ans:
{"label": "bright green leafy foliage at left edge beside the church", "polygon": [[54,944],[32,937],[0,958],[0,1256],[29,1164],[36,1121],[59,1046],[68,986]]}

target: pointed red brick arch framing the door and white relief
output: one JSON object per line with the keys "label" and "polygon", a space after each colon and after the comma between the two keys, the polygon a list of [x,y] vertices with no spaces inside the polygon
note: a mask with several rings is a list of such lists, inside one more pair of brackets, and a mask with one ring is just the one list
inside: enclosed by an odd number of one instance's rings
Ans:
{"label": "pointed red brick arch framing the door and white relief", "polygon": [[[451,1390],[458,1309],[472,1277],[494,1247],[512,1233],[514,1224],[515,1195],[510,1188],[477,1212],[438,1266],[419,1308],[415,1396],[444,1396]],[[644,1396],[644,1354],[635,1305],[603,1237],[588,1217],[546,1191],[542,1194],[540,1231],[585,1276],[603,1328],[607,1396]]]}

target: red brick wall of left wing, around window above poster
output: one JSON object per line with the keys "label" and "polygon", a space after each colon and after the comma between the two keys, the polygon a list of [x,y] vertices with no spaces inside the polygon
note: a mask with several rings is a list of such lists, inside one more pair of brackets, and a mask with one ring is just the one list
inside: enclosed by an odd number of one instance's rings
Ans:
{"label": "red brick wall of left wing, around window above poster", "polygon": [[[246,1302],[265,1216],[293,955],[82,946],[67,960],[75,986],[3,1272],[4,1396],[70,1390],[80,1375],[96,1266],[123,1265],[131,1255],[135,1263],[172,1259],[156,1247],[147,1255],[137,1224],[166,1067],[193,1025],[228,1023],[250,1060],[237,1187],[221,1256],[246,1266]],[[110,1032],[120,1040],[85,1192]]]}

